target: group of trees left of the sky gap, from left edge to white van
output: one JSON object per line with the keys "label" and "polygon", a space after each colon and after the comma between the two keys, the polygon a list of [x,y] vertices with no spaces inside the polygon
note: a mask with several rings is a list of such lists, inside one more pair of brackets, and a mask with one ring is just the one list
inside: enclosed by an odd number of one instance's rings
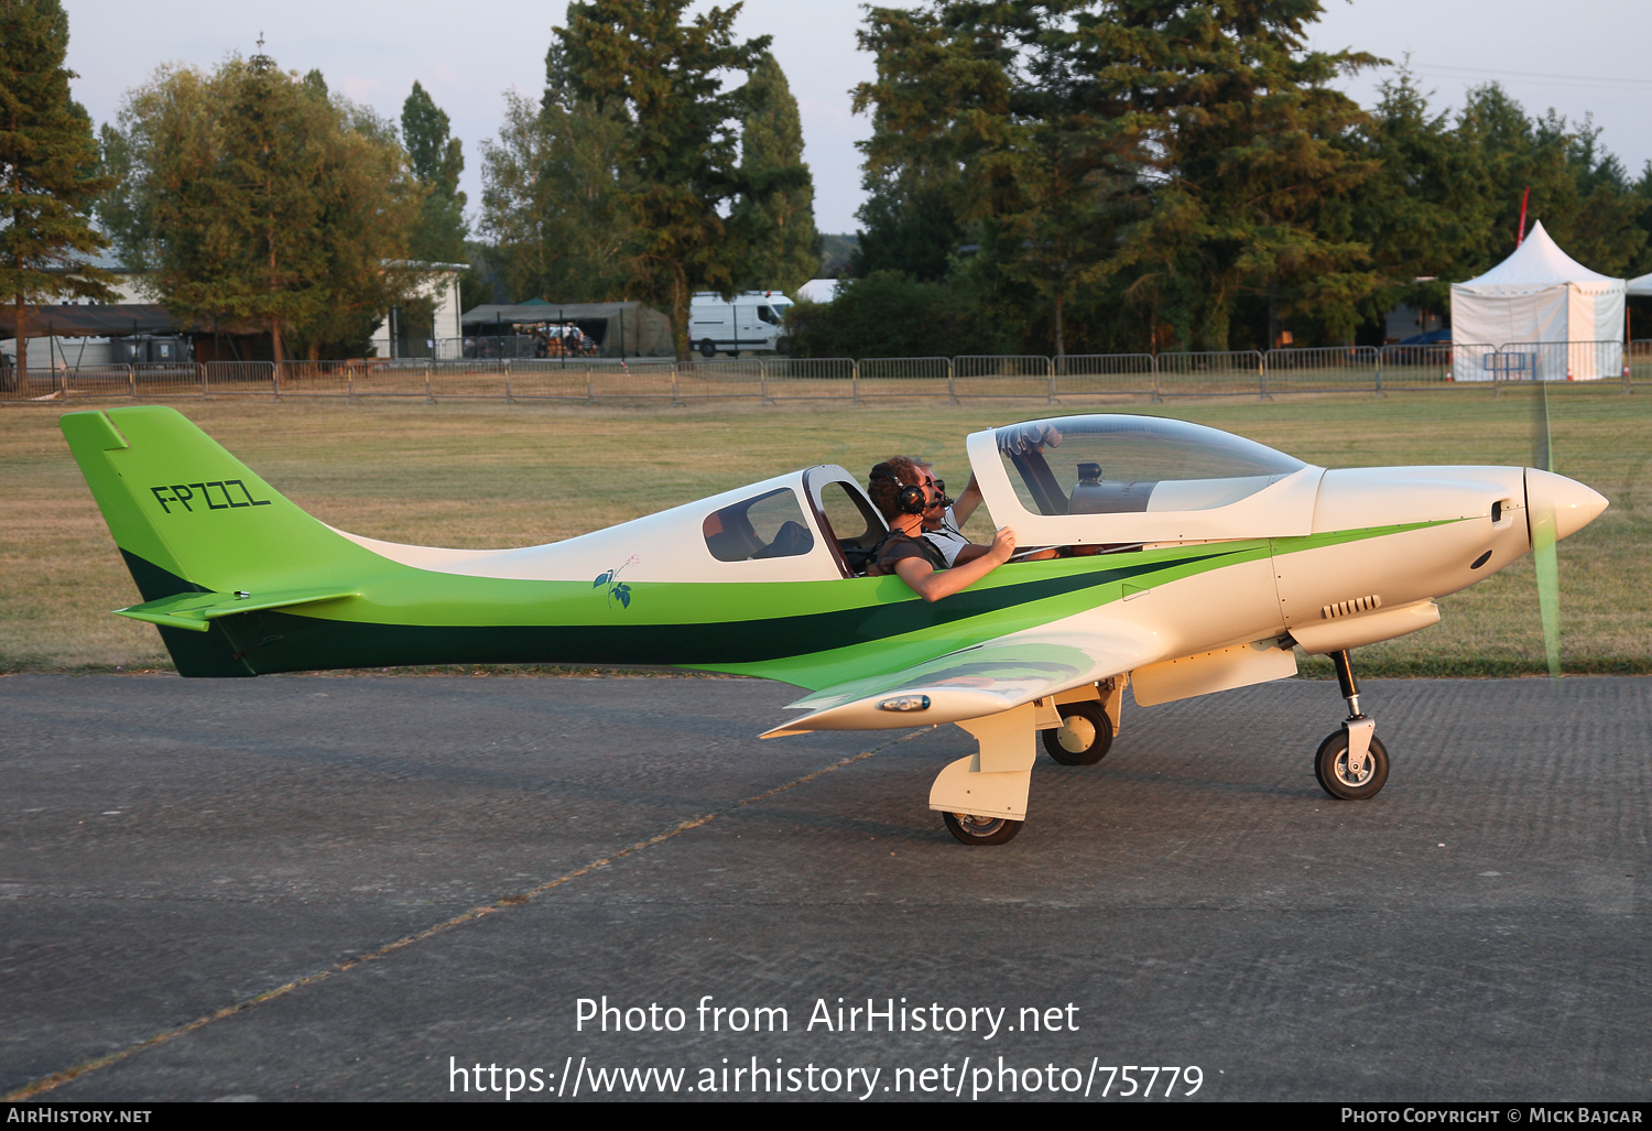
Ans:
{"label": "group of trees left of the sky gap, from left edge to white van", "polygon": [[[471,239],[448,116],[418,84],[400,130],[259,51],[160,68],[96,135],[69,97],[58,0],[0,0],[0,299],[112,300],[112,251],[197,327],[268,334],[276,360],[352,357],[430,264],[464,300],[641,299],[679,348],[695,291],[795,289],[819,238],[803,132],[738,5],[591,0],[553,28],[547,83],[484,145]],[[733,76],[733,83],[730,83]],[[428,317],[428,312],[426,312]],[[23,338],[26,342],[26,338]],[[26,363],[26,345],[20,345]]]}

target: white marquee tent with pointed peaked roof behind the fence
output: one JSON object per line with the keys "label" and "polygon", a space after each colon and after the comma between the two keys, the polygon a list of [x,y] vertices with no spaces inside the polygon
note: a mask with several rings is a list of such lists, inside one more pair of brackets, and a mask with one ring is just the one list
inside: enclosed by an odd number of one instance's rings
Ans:
{"label": "white marquee tent with pointed peaked roof behind the fence", "polygon": [[[1637,281],[1639,282],[1639,281]],[[1510,348],[1498,365],[1510,378],[1593,381],[1617,376],[1624,340],[1622,279],[1589,271],[1559,249],[1541,223],[1531,226],[1515,254],[1479,279],[1450,289],[1452,371],[1459,381],[1488,381],[1492,350]],[[1538,343],[1599,343],[1563,348]]]}

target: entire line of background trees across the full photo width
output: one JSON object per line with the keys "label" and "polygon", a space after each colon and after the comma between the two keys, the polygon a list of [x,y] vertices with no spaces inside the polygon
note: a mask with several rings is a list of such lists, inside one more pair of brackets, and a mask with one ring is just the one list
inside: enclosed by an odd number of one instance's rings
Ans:
{"label": "entire line of background trees across the full photo width", "polygon": [[[0,0],[0,300],[111,299],[112,249],[202,327],[276,357],[352,357],[423,264],[464,305],[639,299],[687,353],[697,291],[793,292],[823,238],[798,106],[740,5],[575,0],[539,97],[464,155],[413,84],[400,122],[259,51],[162,68],[94,134],[69,97],[58,0]],[[1439,109],[1401,68],[1370,111],[1335,89],[1386,64],[1315,51],[1317,0],[932,0],[869,7],[866,203],[818,357],[1105,353],[1379,342],[1399,304],[1512,251],[1521,195],[1574,258],[1652,269],[1639,178],[1588,119],[1497,84]],[[426,312],[428,317],[428,312]],[[21,353],[20,347],[20,353]]]}

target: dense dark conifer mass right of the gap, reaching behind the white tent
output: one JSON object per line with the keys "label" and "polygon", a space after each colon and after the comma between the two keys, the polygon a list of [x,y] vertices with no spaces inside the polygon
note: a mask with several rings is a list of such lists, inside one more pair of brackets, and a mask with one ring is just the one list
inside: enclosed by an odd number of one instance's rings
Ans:
{"label": "dense dark conifer mass right of the gap, reaching behind the white tent", "polygon": [[[1652,269],[1652,162],[1500,86],[1436,109],[1404,66],[1307,48],[1315,0],[935,0],[869,8],[877,74],[854,281],[800,310],[803,348],[910,353],[1379,345],[1396,305],[1530,216],[1589,267]],[[1528,221],[1530,226],[1530,221]],[[882,352],[882,350],[879,350]]]}

